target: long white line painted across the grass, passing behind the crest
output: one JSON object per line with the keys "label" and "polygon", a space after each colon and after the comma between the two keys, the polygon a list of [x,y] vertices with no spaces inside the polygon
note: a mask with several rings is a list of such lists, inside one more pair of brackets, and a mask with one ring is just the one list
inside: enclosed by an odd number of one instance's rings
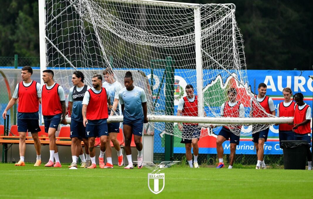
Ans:
{"label": "long white line painted across the grass, passing behind the crest", "polygon": [[[15,173],[2,173],[1,175],[20,175],[20,174],[15,174]],[[30,175],[30,176],[37,176],[37,174],[23,174],[23,175]],[[63,177],[86,177],[82,175],[55,175],[55,174],[45,174],[41,176],[63,176]],[[92,176],[93,178],[144,178],[147,179],[146,177],[131,177],[131,176]],[[255,180],[249,180],[249,179],[214,179],[214,178],[167,178],[166,179],[174,179],[174,180],[205,180],[205,181],[239,181],[239,182],[255,182]],[[258,181],[264,181],[264,182],[313,182],[313,180],[261,180],[258,179]]]}

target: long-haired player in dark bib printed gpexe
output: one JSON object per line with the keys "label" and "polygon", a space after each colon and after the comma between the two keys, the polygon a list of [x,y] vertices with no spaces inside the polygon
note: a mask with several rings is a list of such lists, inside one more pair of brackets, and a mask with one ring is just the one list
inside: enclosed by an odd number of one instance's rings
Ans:
{"label": "long-haired player in dark bib printed gpexe", "polygon": [[[90,166],[90,155],[88,151],[88,138],[86,138],[86,128],[83,125],[83,99],[85,92],[90,89],[89,86],[84,84],[84,74],[81,71],[75,71],[72,75],[72,83],[74,87],[69,89],[69,113],[71,115],[71,126],[70,126],[70,137],[72,140],[71,152],[73,162],[70,167],[77,168],[77,160],[80,157],[82,164],[81,168],[87,168]],[[86,152],[86,159],[81,146],[81,141],[83,140]]]}

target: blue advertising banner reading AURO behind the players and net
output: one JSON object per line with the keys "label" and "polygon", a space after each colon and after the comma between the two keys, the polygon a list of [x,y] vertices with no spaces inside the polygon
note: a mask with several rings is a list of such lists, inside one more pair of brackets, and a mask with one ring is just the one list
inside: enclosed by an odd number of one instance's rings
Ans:
{"label": "blue advertising banner reading AURO behind the players and net", "polygon": [[[150,70],[143,70],[148,79],[151,78]],[[203,74],[209,74],[208,71],[204,71]],[[210,73],[212,74],[212,73]],[[164,89],[162,85],[162,75],[163,70],[158,70],[153,74],[153,91],[156,93],[158,89]],[[309,75],[313,75],[312,71],[279,71],[279,70],[247,70],[247,76],[249,81],[249,86],[251,91],[258,94],[257,88],[259,83],[265,83],[267,85],[267,95],[271,97],[274,101],[275,108],[277,105],[284,101],[282,90],[285,87],[290,87],[293,93],[301,92],[304,95],[304,101],[312,107],[312,92],[313,85],[312,79]],[[187,84],[195,83],[196,70],[191,69],[176,69],[175,70],[175,111],[177,112],[178,100],[182,96],[185,96],[184,88]],[[203,78],[203,88],[205,88],[211,82],[225,83],[227,77],[222,79],[221,77],[210,77]],[[255,83],[254,83],[255,82]],[[159,87],[161,84],[161,87]],[[163,82],[164,84],[164,82]],[[196,85],[193,85],[196,88]],[[197,90],[195,89],[195,93]],[[156,110],[164,110],[165,96],[158,96]],[[277,110],[276,110],[277,112]],[[219,132],[219,130],[215,131]],[[158,132],[155,132],[155,142],[161,142],[163,134],[159,132],[160,137],[158,137]],[[216,134],[203,137],[199,140],[199,153],[203,154],[216,154]],[[254,143],[251,141],[252,136],[242,136],[240,138],[240,145],[237,146],[237,154],[255,154]],[[158,145],[157,143],[155,145]],[[229,141],[223,143],[224,153],[229,154]],[[159,153],[160,149],[155,149],[155,153]],[[175,137],[174,139],[174,153],[185,153],[184,144],[180,143],[180,138]],[[279,147],[278,138],[278,126],[271,126],[269,129],[268,140],[264,145],[264,154],[282,154],[282,149]]]}

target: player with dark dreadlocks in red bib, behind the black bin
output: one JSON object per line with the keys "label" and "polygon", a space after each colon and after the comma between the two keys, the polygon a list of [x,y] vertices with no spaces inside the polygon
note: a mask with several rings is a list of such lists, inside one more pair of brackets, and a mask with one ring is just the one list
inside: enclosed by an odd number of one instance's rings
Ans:
{"label": "player with dark dreadlocks in red bib, behind the black bin", "polygon": [[295,140],[306,140],[309,145],[307,148],[306,157],[308,159],[308,170],[312,170],[312,153],[310,151],[311,146],[311,107],[307,105],[303,99],[303,94],[301,92],[295,93],[292,98],[295,100],[295,116],[294,116],[294,127],[292,130],[295,132]]}

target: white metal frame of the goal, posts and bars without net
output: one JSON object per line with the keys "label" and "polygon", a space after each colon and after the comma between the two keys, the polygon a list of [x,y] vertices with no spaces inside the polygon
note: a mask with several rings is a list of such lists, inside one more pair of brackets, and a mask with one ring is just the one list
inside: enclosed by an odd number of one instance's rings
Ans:
{"label": "white metal frame of the goal, posts and bars without net", "polygon": [[[72,3],[66,7],[59,15],[65,12],[70,6],[79,0],[73,0]],[[167,6],[167,7],[181,7],[181,8],[192,8],[194,10],[194,37],[195,37],[195,63],[196,63],[196,78],[197,78],[197,95],[198,95],[198,117],[186,117],[186,116],[156,116],[148,115],[148,120],[151,122],[192,122],[192,123],[204,123],[204,124],[280,124],[280,123],[292,123],[293,118],[277,118],[277,117],[266,117],[266,118],[227,118],[227,117],[204,117],[204,102],[203,102],[203,54],[208,55],[202,49],[202,27],[201,27],[201,15],[200,11],[204,6],[214,6],[221,4],[192,4],[192,3],[181,3],[181,2],[166,2],[166,1],[153,1],[153,0],[138,0],[138,1],[125,1],[125,0],[98,0],[98,1],[107,1],[107,2],[123,2],[130,4],[146,4],[146,5],[155,5],[158,6]],[[173,4],[175,3],[175,4]],[[54,17],[51,21],[46,23],[45,15],[45,0],[38,0],[39,5],[39,44],[40,44],[40,72],[44,71],[47,68],[47,57],[46,57],[46,46],[47,43],[52,45],[56,49],[60,56],[63,57],[66,62],[76,70],[76,67],[69,61],[66,55],[62,54],[61,50],[58,49],[54,43],[49,40],[46,36],[46,26],[52,21],[56,20],[59,15]],[[229,9],[235,10],[236,6],[233,3],[223,4]],[[210,58],[210,56],[208,55]],[[212,57],[211,57],[212,58]],[[212,58],[213,59],[213,58]],[[214,60],[214,59],[213,59]],[[215,60],[214,60],[215,61]],[[218,62],[217,62],[218,63]],[[219,64],[219,63],[218,63]],[[240,82],[240,81],[239,81]],[[41,84],[43,85],[43,80],[41,79]],[[70,122],[70,119],[68,119]],[[122,122],[122,116],[115,116],[114,118],[109,117],[109,122]]]}

